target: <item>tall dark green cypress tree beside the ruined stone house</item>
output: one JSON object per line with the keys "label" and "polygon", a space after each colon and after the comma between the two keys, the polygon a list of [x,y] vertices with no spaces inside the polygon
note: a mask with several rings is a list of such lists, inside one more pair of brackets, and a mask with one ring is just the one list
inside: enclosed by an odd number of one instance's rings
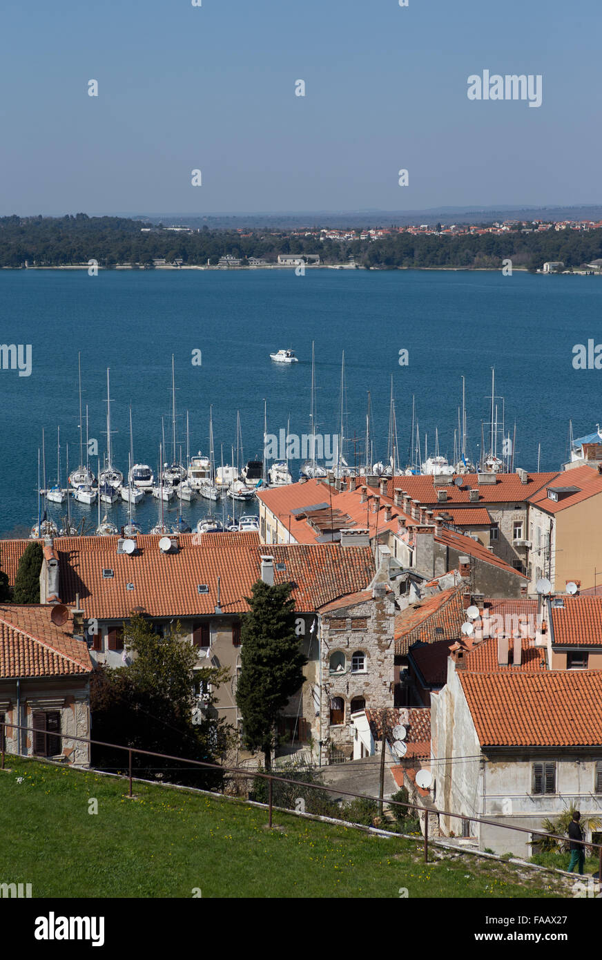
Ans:
{"label": "tall dark green cypress tree beside the ruined stone house", "polygon": [[251,611],[243,617],[241,672],[236,703],[242,715],[246,746],[261,750],[266,770],[271,769],[277,745],[276,721],[280,710],[303,683],[307,662],[295,634],[291,584],[270,587],[262,580],[246,597]]}

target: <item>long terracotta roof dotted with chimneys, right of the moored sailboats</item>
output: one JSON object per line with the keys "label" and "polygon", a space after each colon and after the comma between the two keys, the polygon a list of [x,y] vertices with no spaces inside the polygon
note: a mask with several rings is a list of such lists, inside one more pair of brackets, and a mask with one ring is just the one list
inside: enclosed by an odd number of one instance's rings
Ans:
{"label": "long terracotta roof dotted with chimneys, right of the moored sailboats", "polygon": [[[464,473],[461,476],[463,480],[461,488],[454,485],[454,477],[451,476],[445,487],[435,487],[434,477],[429,474],[397,476],[389,480],[387,492],[389,496],[393,496],[394,490],[404,490],[409,493],[413,500],[418,500],[422,505],[429,508],[445,507],[447,504],[454,506],[461,503],[471,504],[469,490],[478,490],[478,502],[481,505],[486,503],[511,503],[513,501],[519,503],[524,502],[533,493],[541,490],[543,485],[557,477],[558,473],[527,473],[526,484],[521,482],[518,473],[497,473],[494,484],[479,484],[476,473]],[[439,503],[437,499],[438,490],[447,492],[445,504]]]}

